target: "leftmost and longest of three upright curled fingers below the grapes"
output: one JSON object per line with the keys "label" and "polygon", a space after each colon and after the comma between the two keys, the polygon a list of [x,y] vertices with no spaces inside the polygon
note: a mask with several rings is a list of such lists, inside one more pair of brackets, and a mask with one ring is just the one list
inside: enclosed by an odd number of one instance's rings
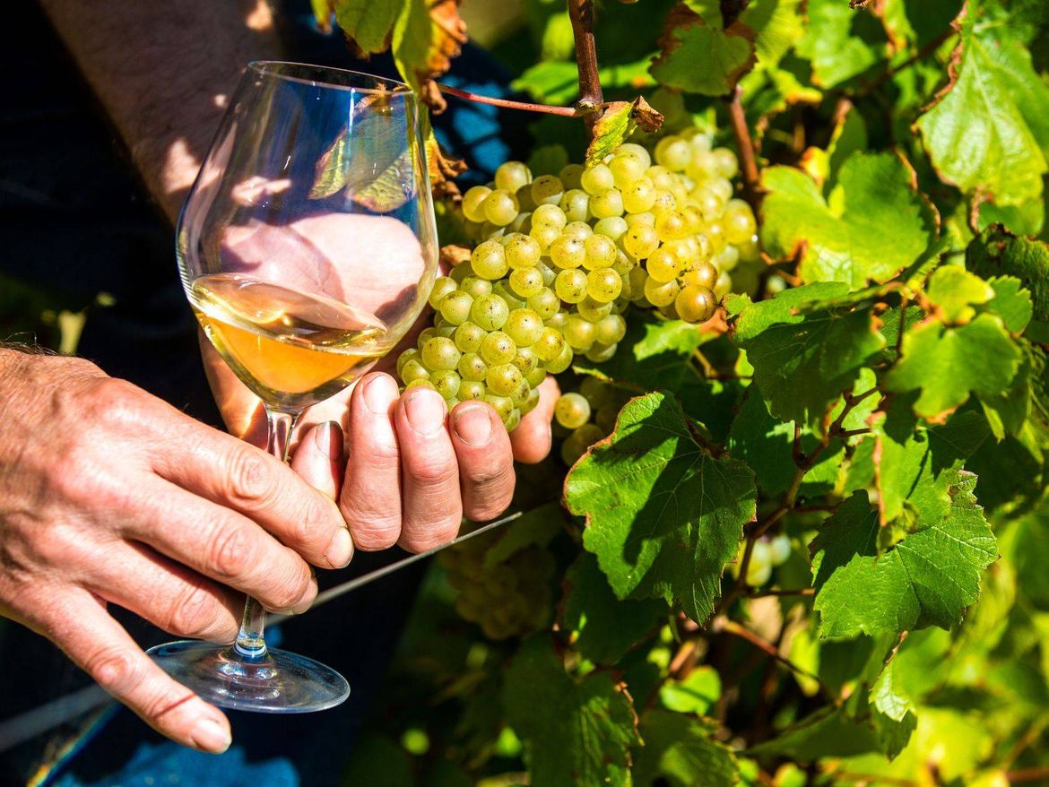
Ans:
{"label": "leftmost and longest of three upright curled fingers below the grapes", "polygon": [[389,375],[366,375],[349,408],[346,478],[339,508],[354,543],[365,551],[392,547],[401,537],[401,450],[392,412],[398,385]]}

